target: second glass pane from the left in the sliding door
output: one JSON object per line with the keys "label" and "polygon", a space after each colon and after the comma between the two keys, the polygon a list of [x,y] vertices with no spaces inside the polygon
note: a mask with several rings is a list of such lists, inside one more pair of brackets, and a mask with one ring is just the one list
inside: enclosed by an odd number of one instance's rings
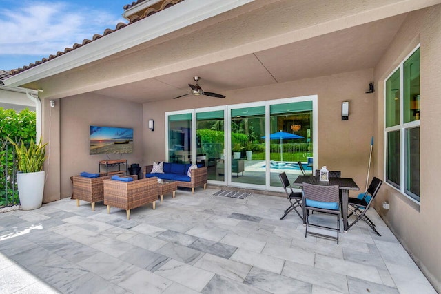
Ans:
{"label": "second glass pane from the left in the sliding door", "polygon": [[224,138],[223,110],[196,113],[196,158],[207,166],[208,180],[225,180]]}

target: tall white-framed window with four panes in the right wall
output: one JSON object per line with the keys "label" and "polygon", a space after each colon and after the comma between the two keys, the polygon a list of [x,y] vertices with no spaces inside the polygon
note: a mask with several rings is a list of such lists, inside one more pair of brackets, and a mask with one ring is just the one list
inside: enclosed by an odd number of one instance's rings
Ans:
{"label": "tall white-framed window with four panes in the right wall", "polygon": [[386,181],[420,202],[420,48],[384,82]]}

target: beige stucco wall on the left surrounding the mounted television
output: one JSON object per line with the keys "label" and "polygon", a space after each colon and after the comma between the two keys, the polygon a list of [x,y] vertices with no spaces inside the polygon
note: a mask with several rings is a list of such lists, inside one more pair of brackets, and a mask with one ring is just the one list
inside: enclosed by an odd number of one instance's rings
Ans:
{"label": "beige stucco wall on the left surrounding the mounted television", "polygon": [[98,161],[120,159],[118,154],[90,155],[90,125],[133,128],[133,153],[122,159],[143,164],[143,109],[140,104],[93,94],[83,94],[60,101],[61,198],[72,195],[70,176],[81,171],[98,172]]}

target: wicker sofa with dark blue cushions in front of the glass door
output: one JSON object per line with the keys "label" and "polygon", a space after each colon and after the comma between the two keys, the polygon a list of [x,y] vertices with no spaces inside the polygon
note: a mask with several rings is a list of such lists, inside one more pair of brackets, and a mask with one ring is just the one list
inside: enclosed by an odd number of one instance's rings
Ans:
{"label": "wicker sofa with dark blue cushions in front of the glass door", "polygon": [[[167,165],[172,165],[172,169],[167,169]],[[191,177],[187,176],[187,171],[189,168],[189,164],[185,163],[168,163],[164,162],[164,174],[154,173],[151,174],[153,165],[145,166],[145,177],[157,177],[163,180],[174,180],[176,181],[178,187],[192,188],[192,193],[194,193],[194,188],[196,187],[204,187],[204,190],[207,188],[207,167],[198,167],[197,169],[192,169],[190,171]],[[177,167],[174,169],[174,167]],[[182,168],[181,173],[174,173],[172,171],[176,171],[179,167]]]}

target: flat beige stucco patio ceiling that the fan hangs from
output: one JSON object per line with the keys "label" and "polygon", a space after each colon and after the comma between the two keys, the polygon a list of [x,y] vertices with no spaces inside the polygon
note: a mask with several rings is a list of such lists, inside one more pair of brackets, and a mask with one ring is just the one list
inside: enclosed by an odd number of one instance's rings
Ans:
{"label": "flat beige stucco patio ceiling that the fan hangs from", "polygon": [[[396,35],[404,17],[405,14],[401,14],[94,93],[146,103],[189,93],[187,84],[194,84],[193,76],[201,76],[199,85],[204,91],[227,95],[229,90],[372,68]],[[180,99],[190,98],[192,95]]]}

